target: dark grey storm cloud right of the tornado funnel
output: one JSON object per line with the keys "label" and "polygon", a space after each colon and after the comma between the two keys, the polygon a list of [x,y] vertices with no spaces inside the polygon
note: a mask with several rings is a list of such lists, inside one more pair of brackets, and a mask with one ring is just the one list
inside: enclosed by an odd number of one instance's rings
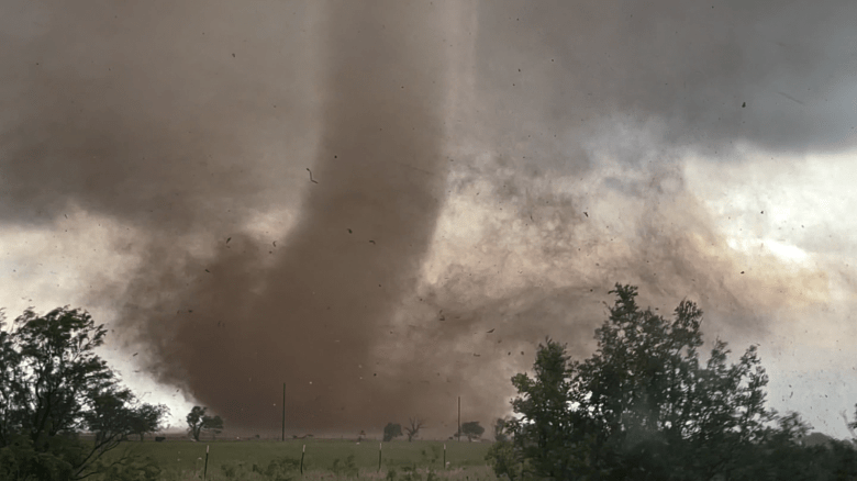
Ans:
{"label": "dark grey storm cloud right of the tornado funnel", "polygon": [[663,141],[704,154],[846,150],[855,14],[848,1],[483,2],[481,120],[524,139],[659,122]]}

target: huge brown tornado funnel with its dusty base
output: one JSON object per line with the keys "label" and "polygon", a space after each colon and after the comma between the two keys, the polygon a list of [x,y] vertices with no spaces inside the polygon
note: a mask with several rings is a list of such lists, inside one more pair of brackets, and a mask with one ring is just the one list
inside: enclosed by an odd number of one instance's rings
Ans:
{"label": "huge brown tornado funnel with its dusty base", "polygon": [[[404,407],[403,387],[378,378],[372,354],[392,310],[414,295],[443,204],[449,8],[324,5],[321,132],[296,224],[209,262],[187,293],[205,301],[157,336],[162,380],[234,426],[277,426],[282,385],[296,429],[380,425]],[[254,260],[265,256],[272,265]]]}

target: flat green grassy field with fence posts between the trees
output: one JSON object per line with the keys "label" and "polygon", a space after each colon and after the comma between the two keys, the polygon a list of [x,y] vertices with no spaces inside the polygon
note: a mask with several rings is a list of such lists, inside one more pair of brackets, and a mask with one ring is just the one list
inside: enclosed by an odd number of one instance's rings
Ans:
{"label": "flat green grassy field with fence posts between the trees", "polygon": [[[444,468],[444,444],[446,462]],[[303,476],[299,465],[305,445]],[[378,470],[378,441],[338,439],[214,440],[193,443],[167,440],[123,443],[110,456],[123,452],[149,457],[163,469],[163,480],[202,479],[205,447],[210,447],[208,480],[287,480],[287,479],[383,479],[396,471],[397,480],[493,480],[486,467],[489,443],[394,440],[383,443]],[[349,465],[348,458],[352,457]],[[350,469],[348,469],[350,467]],[[338,476],[337,476],[338,472]],[[358,478],[355,473],[358,472]]]}

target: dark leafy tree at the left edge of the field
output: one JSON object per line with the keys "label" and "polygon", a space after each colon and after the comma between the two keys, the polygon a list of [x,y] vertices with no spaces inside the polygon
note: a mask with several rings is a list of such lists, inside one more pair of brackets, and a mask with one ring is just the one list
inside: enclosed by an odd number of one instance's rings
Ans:
{"label": "dark leafy tree at the left edge of the field", "polygon": [[[84,479],[127,461],[102,457],[159,425],[166,407],[138,403],[94,354],[105,335],[88,313],[67,306],[26,310],[0,328],[0,478]],[[80,432],[93,433],[94,443]]]}

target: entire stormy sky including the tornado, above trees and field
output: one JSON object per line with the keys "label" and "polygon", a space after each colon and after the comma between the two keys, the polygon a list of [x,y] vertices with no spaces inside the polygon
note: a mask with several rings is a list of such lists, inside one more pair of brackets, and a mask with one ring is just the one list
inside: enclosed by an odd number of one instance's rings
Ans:
{"label": "entire stormy sky including the tornado, above trees and field", "polygon": [[[857,3],[0,4],[0,305],[70,304],[175,425],[507,414],[615,282],[857,403]],[[489,333],[490,331],[490,333]],[[132,357],[134,353],[138,356]]]}

